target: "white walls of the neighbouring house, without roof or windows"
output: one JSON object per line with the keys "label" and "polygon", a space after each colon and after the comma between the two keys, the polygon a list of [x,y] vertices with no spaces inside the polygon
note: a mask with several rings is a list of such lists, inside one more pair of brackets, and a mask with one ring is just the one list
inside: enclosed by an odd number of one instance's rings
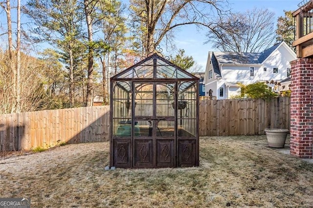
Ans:
{"label": "white walls of the neighbouring house, without roof or windows", "polygon": [[[205,71],[205,95],[208,96],[209,90],[213,90],[212,96],[217,99],[228,99],[240,93],[240,88],[229,85],[228,83],[243,83],[250,84],[258,81],[281,81],[287,78],[287,68],[290,68],[290,62],[296,59],[294,52],[288,48],[286,43],[282,43],[274,50],[268,58],[259,64],[221,64],[220,70],[222,78],[216,78],[213,71],[212,79],[208,79],[209,70],[213,70],[210,64],[210,53]],[[254,76],[250,76],[250,67],[254,67]],[[264,71],[264,67],[267,71]],[[278,73],[273,73],[273,68],[278,68]],[[227,83],[227,86],[225,86]],[[224,87],[224,97],[220,97],[220,87]],[[286,87],[287,88],[287,87]]]}

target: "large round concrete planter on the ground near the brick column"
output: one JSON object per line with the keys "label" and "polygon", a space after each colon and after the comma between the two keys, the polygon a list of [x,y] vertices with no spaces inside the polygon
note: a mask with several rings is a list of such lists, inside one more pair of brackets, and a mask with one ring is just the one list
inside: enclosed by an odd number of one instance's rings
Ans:
{"label": "large round concrete planter on the ground near the brick column", "polygon": [[288,129],[283,128],[266,128],[266,137],[268,138],[268,146],[276,148],[284,148]]}

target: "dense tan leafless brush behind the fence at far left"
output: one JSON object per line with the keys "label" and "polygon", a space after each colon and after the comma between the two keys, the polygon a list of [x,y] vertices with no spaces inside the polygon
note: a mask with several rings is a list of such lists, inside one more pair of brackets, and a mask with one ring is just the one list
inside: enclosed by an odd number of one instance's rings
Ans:
{"label": "dense tan leafless brush behind the fence at far left", "polygon": [[[0,114],[16,112],[16,96],[12,82],[13,72],[8,53],[0,52]],[[16,60],[14,60],[14,63]],[[45,89],[43,83],[43,63],[36,58],[21,52],[21,74],[20,74],[20,112],[43,109],[45,102]]]}

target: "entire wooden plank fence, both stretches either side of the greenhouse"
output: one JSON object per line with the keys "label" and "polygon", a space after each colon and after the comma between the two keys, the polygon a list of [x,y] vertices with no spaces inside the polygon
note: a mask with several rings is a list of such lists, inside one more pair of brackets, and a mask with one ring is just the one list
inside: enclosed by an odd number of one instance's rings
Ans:
{"label": "entire wooden plank fence, both stretches either side of the greenhouse", "polygon": [[[102,142],[110,138],[110,107],[93,106],[0,115],[0,151]],[[290,98],[200,101],[200,136],[264,134],[290,129]]]}

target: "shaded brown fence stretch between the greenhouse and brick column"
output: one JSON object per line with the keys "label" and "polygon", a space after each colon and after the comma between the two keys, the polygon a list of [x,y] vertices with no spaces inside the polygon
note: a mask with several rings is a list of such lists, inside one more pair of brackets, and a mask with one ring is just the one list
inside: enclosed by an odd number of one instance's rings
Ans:
{"label": "shaded brown fence stretch between the greenhouse and brick column", "polygon": [[200,136],[260,135],[290,129],[290,98],[200,101]]}

